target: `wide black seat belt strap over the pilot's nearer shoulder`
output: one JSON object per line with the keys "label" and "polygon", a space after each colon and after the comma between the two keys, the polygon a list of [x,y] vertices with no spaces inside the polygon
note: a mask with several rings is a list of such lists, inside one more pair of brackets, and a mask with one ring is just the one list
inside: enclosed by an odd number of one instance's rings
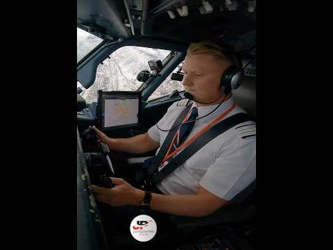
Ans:
{"label": "wide black seat belt strap over the pilot's nearer shoulder", "polygon": [[196,140],[194,140],[189,146],[187,146],[183,151],[181,151],[175,158],[173,158],[166,166],[164,166],[160,172],[155,172],[151,176],[151,183],[160,183],[164,178],[171,174],[177,167],[182,165],[187,159],[201,149],[205,144],[216,138],[216,136],[221,135],[221,133],[227,131],[229,128],[241,124],[242,122],[250,121],[250,117],[246,113],[237,113],[224,119],[223,121],[215,124],[205,133],[201,134]]}

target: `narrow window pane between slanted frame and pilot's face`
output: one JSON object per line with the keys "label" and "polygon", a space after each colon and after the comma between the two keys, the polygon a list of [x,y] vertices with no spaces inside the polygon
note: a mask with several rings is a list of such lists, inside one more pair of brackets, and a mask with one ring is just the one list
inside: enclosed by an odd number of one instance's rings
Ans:
{"label": "narrow window pane between slanted frame and pilot's face", "polygon": [[151,96],[148,97],[148,101],[152,101],[154,99],[171,94],[173,90],[178,90],[178,91],[185,90],[184,86],[182,85],[182,82],[171,80],[171,75],[173,73],[178,72],[180,67],[182,67],[182,63],[180,63],[180,65],[178,65],[178,67],[176,67],[176,69],[174,69],[173,72],[169,74],[169,76],[164,80],[164,82],[161,83],[160,86],[158,86],[158,88],[153,92],[153,94],[151,94]]}

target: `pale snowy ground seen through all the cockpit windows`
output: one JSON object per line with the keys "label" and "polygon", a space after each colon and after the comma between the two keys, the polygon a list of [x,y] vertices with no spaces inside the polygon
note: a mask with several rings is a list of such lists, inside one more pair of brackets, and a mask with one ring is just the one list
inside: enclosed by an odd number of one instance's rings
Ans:
{"label": "pale snowy ground seen through all the cockpit windows", "polygon": [[[89,51],[94,49],[102,40],[86,31],[78,28],[78,58],[79,61]],[[90,49],[90,50],[89,50]],[[89,50],[89,51],[88,51]],[[97,67],[94,84],[85,89],[80,83],[77,87],[81,88],[81,96],[87,103],[97,101],[97,91],[126,90],[135,91],[142,82],[137,81],[137,74],[143,69],[149,69],[148,60],[164,60],[171,51],[162,49],[151,49],[145,47],[126,46],[117,49]],[[176,72],[178,67],[174,70]],[[171,74],[164,82],[151,94],[148,101],[164,97],[171,94],[173,90],[184,90],[182,83],[171,80]]]}

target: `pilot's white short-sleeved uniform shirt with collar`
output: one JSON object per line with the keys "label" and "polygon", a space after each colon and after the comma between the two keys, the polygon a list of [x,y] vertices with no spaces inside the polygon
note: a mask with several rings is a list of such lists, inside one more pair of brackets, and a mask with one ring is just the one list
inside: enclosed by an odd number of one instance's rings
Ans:
{"label": "pilot's white short-sleeved uniform shirt with collar", "polygon": [[[233,103],[234,100],[230,98],[212,114],[207,115],[219,104],[198,107],[194,102],[192,107],[198,108],[198,118],[204,115],[207,117],[196,121],[186,141],[228,110]],[[170,129],[184,108],[185,106],[177,106],[177,103],[173,103],[157,123],[158,127],[164,130]],[[244,112],[242,108],[236,106],[223,119]],[[149,137],[161,146],[168,133],[169,131],[161,131],[155,125],[148,130]],[[191,158],[164,178],[157,188],[164,194],[197,194],[202,186],[221,199],[230,201],[255,180],[255,133],[255,122],[251,121],[230,128],[194,153]],[[159,150],[160,147],[156,154]],[[160,169],[162,167],[159,167]]]}

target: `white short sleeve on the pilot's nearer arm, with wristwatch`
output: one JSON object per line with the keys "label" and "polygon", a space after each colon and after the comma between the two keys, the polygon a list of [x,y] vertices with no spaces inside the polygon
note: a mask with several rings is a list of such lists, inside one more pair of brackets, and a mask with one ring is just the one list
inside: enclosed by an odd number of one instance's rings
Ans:
{"label": "white short sleeve on the pilot's nearer arm, with wristwatch", "polygon": [[215,162],[201,178],[200,185],[221,199],[230,201],[256,176],[255,138],[237,139],[221,150]]}

